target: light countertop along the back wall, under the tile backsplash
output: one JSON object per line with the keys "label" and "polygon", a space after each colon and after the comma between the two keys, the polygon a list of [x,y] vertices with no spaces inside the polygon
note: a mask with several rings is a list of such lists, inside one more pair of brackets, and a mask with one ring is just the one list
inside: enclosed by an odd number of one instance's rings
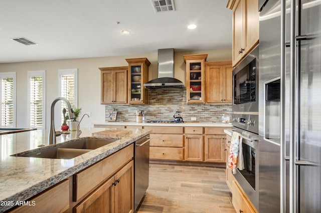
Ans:
{"label": "light countertop along the back wall, under the tile backsplash", "polygon": [[147,123],[147,122],[115,121],[115,122],[105,122],[105,123],[94,123],[93,125],[232,127],[231,123],[222,123],[222,122]]}

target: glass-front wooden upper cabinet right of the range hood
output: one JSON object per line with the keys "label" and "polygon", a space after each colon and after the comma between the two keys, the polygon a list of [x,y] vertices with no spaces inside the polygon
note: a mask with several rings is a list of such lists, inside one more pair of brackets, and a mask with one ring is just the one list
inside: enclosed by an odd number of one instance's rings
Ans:
{"label": "glass-front wooden upper cabinet right of the range hood", "polygon": [[205,61],[207,54],[185,55],[186,63],[186,102],[205,103]]}

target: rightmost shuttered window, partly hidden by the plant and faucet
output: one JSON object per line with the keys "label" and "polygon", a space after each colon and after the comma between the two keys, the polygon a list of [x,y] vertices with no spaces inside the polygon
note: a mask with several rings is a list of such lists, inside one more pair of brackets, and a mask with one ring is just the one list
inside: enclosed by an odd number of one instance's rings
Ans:
{"label": "rightmost shuttered window, partly hidden by the plant and faucet", "polygon": [[[66,98],[71,106],[77,106],[78,103],[78,70],[77,69],[65,69],[59,70],[59,95],[60,97]],[[65,102],[61,101],[61,123],[64,121],[64,117],[62,114],[63,108],[67,109],[67,105]]]}

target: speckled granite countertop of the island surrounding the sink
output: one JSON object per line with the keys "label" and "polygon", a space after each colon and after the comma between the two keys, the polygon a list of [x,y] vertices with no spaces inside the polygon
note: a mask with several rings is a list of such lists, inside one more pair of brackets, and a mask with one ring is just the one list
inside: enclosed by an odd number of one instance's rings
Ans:
{"label": "speckled granite countertop of the island surrounding the sink", "polygon": [[[93,132],[106,130],[106,128],[81,130],[80,137],[85,138],[91,137]],[[16,201],[24,201],[133,143],[151,131],[146,129],[128,130],[132,131],[132,134],[72,159],[11,156],[31,149],[38,149],[38,145],[48,146],[48,130],[0,135],[0,201],[14,201],[15,203]],[[71,134],[58,136],[57,144],[75,139],[75,134],[76,132],[72,131]],[[0,212],[13,207],[3,204],[0,204]]]}

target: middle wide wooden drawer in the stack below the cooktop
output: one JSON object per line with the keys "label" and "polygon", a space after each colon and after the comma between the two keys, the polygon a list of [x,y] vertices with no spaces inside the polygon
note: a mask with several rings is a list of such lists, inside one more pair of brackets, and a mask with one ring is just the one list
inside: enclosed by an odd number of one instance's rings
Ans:
{"label": "middle wide wooden drawer in the stack below the cooktop", "polygon": [[151,134],[150,146],[183,147],[183,135]]}

